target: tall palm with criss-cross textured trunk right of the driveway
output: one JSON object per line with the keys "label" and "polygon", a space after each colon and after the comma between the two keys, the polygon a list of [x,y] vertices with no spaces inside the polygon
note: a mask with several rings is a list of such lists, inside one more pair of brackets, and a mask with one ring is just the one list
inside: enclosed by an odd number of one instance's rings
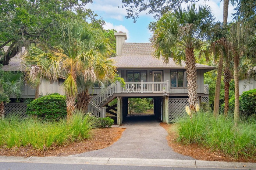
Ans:
{"label": "tall palm with criss-cross textured trunk right of the driveway", "polygon": [[197,103],[197,70],[194,50],[202,50],[211,39],[211,25],[214,22],[211,9],[207,6],[190,5],[165,14],[156,25],[152,37],[155,57],[162,56],[165,63],[172,57],[176,63],[186,62],[187,89],[190,109],[195,111]]}

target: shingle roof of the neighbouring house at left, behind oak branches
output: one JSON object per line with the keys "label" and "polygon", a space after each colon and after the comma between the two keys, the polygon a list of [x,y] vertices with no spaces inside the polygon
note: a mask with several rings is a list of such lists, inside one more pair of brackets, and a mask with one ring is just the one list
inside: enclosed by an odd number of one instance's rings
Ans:
{"label": "shingle roof of the neighbouring house at left, behind oak branches", "polygon": [[[6,52],[8,48],[9,46],[4,46],[3,49]],[[25,47],[22,47],[21,52],[16,54],[16,56],[12,57],[10,59],[9,65],[3,66],[2,69],[5,71],[24,71],[25,69],[21,64],[21,61],[22,61],[21,57],[24,54],[24,52],[25,52]]]}

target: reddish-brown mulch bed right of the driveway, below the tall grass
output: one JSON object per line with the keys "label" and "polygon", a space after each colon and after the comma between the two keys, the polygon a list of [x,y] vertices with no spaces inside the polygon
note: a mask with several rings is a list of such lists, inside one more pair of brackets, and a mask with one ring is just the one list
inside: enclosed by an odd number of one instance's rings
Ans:
{"label": "reddish-brown mulch bed right of the driveway, below the tall grass", "polygon": [[178,152],[182,155],[191,156],[197,160],[205,160],[205,161],[238,161],[238,162],[256,162],[256,158],[238,158],[234,159],[221,151],[212,151],[209,148],[198,144],[181,144],[176,141],[178,134],[176,131],[172,130],[172,126],[176,126],[175,124],[165,124],[160,123],[160,125],[165,128],[168,132],[168,136],[166,137],[169,146],[173,149],[173,151]]}

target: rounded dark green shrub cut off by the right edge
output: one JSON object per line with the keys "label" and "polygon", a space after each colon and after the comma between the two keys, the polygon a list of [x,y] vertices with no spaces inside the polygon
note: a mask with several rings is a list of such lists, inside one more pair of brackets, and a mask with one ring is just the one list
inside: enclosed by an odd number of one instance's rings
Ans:
{"label": "rounded dark green shrub cut off by the right edge", "polygon": [[256,113],[256,89],[242,93],[240,106],[241,110],[247,115]]}

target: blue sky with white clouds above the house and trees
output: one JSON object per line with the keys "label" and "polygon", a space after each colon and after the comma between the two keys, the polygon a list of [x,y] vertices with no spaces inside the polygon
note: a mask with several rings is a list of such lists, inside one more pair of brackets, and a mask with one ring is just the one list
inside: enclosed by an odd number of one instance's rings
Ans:
{"label": "blue sky with white clouds above the house and trees", "polygon": [[[216,21],[222,21],[223,18],[223,1],[220,0],[200,0],[196,5],[208,5],[212,8],[212,12],[216,17]],[[92,4],[87,4],[86,8],[93,10],[98,16],[102,17],[106,22],[103,27],[105,29],[116,29],[117,32],[127,33],[126,42],[149,42],[152,32],[149,31],[148,24],[155,21],[153,15],[147,15],[142,12],[134,24],[133,19],[126,19],[126,9],[119,8],[122,5],[120,0],[93,0]],[[186,7],[187,4],[183,4]],[[232,21],[234,6],[229,4],[228,22]]]}

